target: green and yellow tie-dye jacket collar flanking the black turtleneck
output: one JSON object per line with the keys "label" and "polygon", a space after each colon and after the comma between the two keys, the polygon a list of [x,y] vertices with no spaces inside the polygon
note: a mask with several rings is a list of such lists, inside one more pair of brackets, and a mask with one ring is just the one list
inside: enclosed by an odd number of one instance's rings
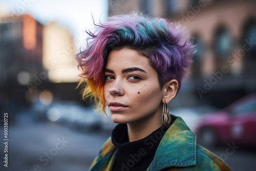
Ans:
{"label": "green and yellow tie-dye jacket collar flanking the black turtleneck", "polygon": [[[176,116],[171,115],[171,117]],[[99,160],[105,157],[109,158],[115,149],[116,147],[113,145],[111,138],[109,138],[100,151]],[[114,156],[112,155],[113,158]],[[106,161],[108,160],[103,159],[103,161],[99,161],[96,165],[102,165],[103,163],[101,162],[106,164]],[[160,141],[155,157],[147,170],[160,170],[170,166],[184,167],[193,165],[196,165],[196,135],[190,131],[180,117],[177,117]]]}

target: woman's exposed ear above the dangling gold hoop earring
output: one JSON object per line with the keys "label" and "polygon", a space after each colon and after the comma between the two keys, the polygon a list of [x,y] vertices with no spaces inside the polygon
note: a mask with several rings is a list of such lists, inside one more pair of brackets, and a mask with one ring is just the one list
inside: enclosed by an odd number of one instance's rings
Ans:
{"label": "woman's exposed ear above the dangling gold hoop earring", "polygon": [[176,79],[172,79],[166,82],[162,88],[162,91],[163,91],[162,102],[163,103],[170,102],[170,100],[172,100],[176,96],[178,89],[179,89],[179,84]]}

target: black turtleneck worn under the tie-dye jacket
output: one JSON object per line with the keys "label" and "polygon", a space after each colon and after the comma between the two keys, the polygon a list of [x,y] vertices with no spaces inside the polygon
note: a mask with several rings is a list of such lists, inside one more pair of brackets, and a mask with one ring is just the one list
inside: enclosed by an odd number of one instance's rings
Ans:
{"label": "black turtleneck worn under the tie-dye jacket", "polygon": [[112,132],[112,143],[117,148],[112,171],[146,170],[153,161],[163,135],[174,119],[147,137],[133,142],[129,142],[127,124],[118,124]]}

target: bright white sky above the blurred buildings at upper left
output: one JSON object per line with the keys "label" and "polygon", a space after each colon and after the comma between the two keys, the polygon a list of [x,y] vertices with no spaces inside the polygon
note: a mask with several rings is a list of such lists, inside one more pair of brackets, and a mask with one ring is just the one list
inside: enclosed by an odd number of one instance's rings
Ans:
{"label": "bright white sky above the blurred buildings at upper left", "polygon": [[[50,22],[68,29],[76,37],[108,18],[108,0],[0,0],[0,13],[30,14],[41,24]],[[75,45],[77,48],[81,45]]]}

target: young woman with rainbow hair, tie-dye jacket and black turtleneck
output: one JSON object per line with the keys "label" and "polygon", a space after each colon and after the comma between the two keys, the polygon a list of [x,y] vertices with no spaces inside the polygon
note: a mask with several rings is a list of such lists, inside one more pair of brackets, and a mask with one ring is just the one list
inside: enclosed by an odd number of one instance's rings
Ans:
{"label": "young woman with rainbow hair, tie-dye jacket and black turtleneck", "polygon": [[86,84],[83,97],[108,106],[119,123],[90,170],[230,170],[196,144],[168,103],[194,54],[189,36],[163,18],[129,14],[109,18],[89,32],[90,43],[76,56]]}

